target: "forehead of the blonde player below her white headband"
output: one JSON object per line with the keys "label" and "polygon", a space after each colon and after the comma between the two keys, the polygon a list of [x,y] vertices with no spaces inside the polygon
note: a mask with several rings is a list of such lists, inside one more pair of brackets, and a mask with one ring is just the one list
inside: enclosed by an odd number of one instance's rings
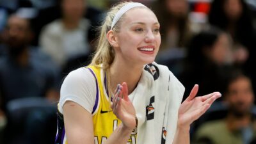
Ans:
{"label": "forehead of the blonde player below her white headband", "polygon": [[128,10],[123,15],[124,24],[131,24],[134,22],[143,22],[143,23],[156,23],[158,22],[156,15],[149,10],[148,8],[138,7]]}

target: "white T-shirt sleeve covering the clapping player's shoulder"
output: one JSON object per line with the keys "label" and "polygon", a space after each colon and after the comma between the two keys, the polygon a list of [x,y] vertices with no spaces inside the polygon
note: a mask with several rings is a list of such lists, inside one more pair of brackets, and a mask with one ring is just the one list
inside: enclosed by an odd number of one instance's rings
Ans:
{"label": "white T-shirt sleeve covering the clapping player's shoulder", "polygon": [[63,113],[63,105],[71,100],[90,113],[93,111],[96,95],[95,78],[86,67],[77,68],[65,77],[60,90],[59,110]]}

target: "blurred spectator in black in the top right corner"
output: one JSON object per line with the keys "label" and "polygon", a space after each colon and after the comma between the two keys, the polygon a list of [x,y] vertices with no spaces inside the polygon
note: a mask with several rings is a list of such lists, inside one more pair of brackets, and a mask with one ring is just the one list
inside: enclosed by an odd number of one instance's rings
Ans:
{"label": "blurred spectator in black in the top right corner", "polygon": [[253,17],[244,0],[214,0],[209,12],[209,24],[227,31],[234,40],[235,62],[244,67],[255,54]]}

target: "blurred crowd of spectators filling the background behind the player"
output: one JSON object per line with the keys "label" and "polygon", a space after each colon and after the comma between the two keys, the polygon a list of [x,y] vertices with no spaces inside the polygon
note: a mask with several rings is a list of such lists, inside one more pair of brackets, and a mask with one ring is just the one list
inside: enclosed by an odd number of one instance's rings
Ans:
{"label": "blurred crowd of spectators filling the background behind the player", "polygon": [[[135,0],[134,0],[135,1]],[[256,143],[256,1],[137,0],[161,24],[156,62],[198,95],[223,97],[191,125],[191,143]],[[54,143],[68,72],[88,65],[116,0],[0,0],[0,143]]]}

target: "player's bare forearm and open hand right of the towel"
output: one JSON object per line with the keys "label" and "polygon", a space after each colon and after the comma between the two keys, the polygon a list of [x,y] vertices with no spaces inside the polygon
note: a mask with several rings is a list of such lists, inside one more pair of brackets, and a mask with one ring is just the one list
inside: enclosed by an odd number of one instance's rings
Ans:
{"label": "player's bare forearm and open hand right of the towel", "polygon": [[221,97],[219,92],[195,97],[197,92],[198,85],[196,84],[188,98],[180,105],[177,131],[173,144],[189,144],[189,129],[192,122],[202,116],[210,108],[214,100]]}

